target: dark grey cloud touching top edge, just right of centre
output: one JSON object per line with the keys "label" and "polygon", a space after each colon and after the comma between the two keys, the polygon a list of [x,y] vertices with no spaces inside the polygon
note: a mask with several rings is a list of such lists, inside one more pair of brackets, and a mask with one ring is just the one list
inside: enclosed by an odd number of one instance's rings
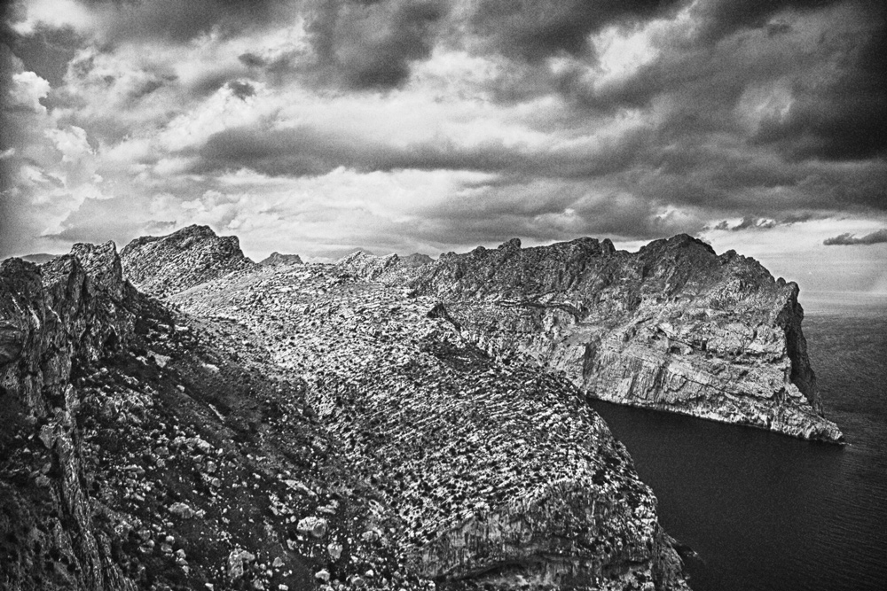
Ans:
{"label": "dark grey cloud touching top edge, just right of centre", "polygon": [[610,24],[631,24],[683,4],[663,0],[482,0],[472,25],[503,55],[536,61],[565,52],[578,56],[588,35]]}

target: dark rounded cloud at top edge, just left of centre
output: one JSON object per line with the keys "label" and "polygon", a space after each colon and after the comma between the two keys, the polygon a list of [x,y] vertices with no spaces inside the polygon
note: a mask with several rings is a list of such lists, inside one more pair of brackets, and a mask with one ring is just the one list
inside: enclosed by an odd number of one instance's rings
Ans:
{"label": "dark rounded cloud at top edge, just left of centre", "polygon": [[449,10],[449,2],[320,0],[306,29],[321,76],[351,89],[390,89],[406,81],[413,61],[428,58]]}

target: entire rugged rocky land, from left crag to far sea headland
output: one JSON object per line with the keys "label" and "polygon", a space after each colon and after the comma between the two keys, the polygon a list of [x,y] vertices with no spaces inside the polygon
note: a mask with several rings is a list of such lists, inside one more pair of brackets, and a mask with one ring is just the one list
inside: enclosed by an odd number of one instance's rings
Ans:
{"label": "entire rugged rocky land, from left crag to far sea headland", "polygon": [[0,263],[0,588],[686,589],[589,396],[840,440],[797,285],[690,237]]}

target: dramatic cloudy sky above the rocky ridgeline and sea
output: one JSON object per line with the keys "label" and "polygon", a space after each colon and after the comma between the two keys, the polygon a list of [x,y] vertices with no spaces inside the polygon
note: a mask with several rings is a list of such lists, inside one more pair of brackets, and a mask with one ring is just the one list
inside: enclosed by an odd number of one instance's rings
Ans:
{"label": "dramatic cloudy sky above the rocky ridgeline and sea", "polygon": [[887,13],[852,0],[2,4],[0,257],[686,232],[887,292]]}

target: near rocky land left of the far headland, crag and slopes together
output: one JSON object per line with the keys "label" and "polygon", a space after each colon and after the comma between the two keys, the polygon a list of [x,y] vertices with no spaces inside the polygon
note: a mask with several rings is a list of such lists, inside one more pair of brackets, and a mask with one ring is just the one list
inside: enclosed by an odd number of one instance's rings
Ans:
{"label": "near rocky land left of the far headland, crag and slopes together", "polygon": [[4,261],[0,588],[687,588],[585,394],[420,263],[199,227]]}

